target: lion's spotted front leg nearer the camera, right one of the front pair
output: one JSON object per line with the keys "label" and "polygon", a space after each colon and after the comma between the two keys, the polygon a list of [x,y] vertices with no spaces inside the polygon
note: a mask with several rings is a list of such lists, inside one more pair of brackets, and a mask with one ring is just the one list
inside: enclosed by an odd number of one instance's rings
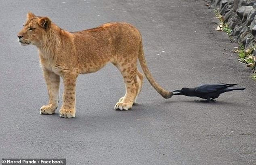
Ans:
{"label": "lion's spotted front leg nearer the camera, right one of the front pair", "polygon": [[76,115],[76,79],[78,74],[65,73],[63,76],[64,93],[63,105],[60,110],[60,116],[63,118],[72,118]]}

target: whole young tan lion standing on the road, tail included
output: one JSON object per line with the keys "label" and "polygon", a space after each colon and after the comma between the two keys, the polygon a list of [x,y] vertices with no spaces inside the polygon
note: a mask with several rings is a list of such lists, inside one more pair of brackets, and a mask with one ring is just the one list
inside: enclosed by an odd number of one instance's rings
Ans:
{"label": "whole young tan lion standing on the road, tail included", "polygon": [[139,59],[150,84],[164,98],[172,92],[164,90],[153,79],[143,54],[142,38],[132,25],[111,22],[94,29],[67,32],[48,17],[27,14],[27,21],[18,37],[21,45],[36,45],[46,81],[49,102],[41,114],[52,114],[58,106],[59,82],[63,78],[64,93],[60,116],[75,117],[76,79],[78,74],[96,72],[107,63],[115,65],[124,77],[126,94],[115,105],[116,110],[128,110],[143,84],[143,74],[137,69]]}

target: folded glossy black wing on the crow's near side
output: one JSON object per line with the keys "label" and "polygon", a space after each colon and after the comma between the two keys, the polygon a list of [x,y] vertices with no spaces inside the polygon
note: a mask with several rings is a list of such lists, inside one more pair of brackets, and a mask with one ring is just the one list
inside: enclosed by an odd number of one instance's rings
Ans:
{"label": "folded glossy black wing on the crow's near side", "polygon": [[202,84],[195,89],[198,93],[210,93],[217,90],[227,88],[226,84]]}

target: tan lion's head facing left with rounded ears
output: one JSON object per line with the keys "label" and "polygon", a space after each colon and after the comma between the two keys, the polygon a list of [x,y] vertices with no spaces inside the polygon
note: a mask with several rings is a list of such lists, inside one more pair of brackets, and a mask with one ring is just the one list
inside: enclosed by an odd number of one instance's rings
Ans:
{"label": "tan lion's head facing left with rounded ears", "polygon": [[36,16],[29,12],[23,26],[23,29],[18,33],[19,43],[23,46],[30,44],[40,46],[50,29],[51,20],[48,17]]}

